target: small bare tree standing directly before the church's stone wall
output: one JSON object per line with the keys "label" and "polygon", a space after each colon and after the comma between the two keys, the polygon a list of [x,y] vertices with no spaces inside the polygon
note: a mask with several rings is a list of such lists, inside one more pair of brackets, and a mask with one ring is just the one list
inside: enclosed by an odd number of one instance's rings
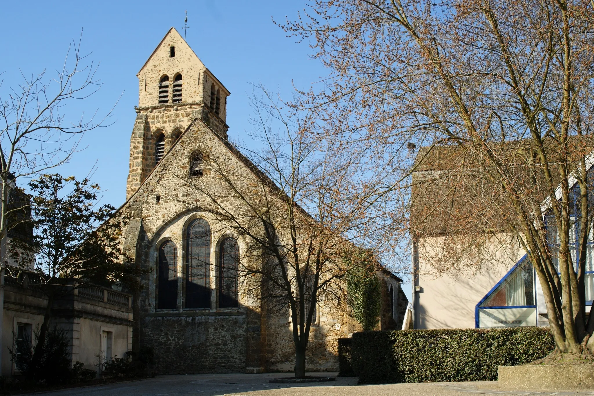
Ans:
{"label": "small bare tree standing directly before the church's stone wall", "polygon": [[240,289],[266,309],[289,314],[295,376],[302,378],[318,300],[346,303],[345,254],[353,242],[369,251],[387,250],[391,238],[372,231],[391,221],[379,212],[370,220],[368,186],[356,182],[358,161],[340,161],[339,148],[318,139],[311,113],[291,110],[263,87],[255,92],[251,137],[258,148],[240,152],[228,146],[249,172],[230,167],[197,142],[204,176],[179,177],[197,197],[206,197],[200,210],[245,242]]}

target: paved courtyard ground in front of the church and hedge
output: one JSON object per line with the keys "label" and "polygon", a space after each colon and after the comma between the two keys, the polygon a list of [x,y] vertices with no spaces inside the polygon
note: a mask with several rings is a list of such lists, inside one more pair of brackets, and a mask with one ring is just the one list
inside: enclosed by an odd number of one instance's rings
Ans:
{"label": "paved courtyard ground in front of the church and hedge", "polygon": [[[330,375],[336,373],[309,373]],[[310,384],[270,384],[271,378],[290,376],[268,374],[200,374],[164,375],[140,381],[46,392],[56,396],[167,396],[167,395],[249,395],[249,396],[470,396],[476,395],[592,395],[594,389],[580,391],[546,391],[501,389],[495,381],[434,382],[426,384],[356,385],[356,378],[337,378],[333,382]]]}

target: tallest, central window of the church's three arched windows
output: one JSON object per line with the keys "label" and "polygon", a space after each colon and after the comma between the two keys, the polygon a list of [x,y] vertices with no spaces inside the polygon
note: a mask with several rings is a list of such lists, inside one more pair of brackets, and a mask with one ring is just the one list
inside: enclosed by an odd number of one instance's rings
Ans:
{"label": "tallest, central window of the church's three arched windows", "polygon": [[210,226],[201,218],[187,229],[185,308],[210,308]]}

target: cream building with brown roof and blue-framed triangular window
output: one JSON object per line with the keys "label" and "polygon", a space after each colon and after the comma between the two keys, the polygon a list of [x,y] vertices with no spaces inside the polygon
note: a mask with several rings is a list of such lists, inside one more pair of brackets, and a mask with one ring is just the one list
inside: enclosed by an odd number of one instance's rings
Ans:
{"label": "cream building with brown roof and blue-framed triangular window", "polygon": [[[465,195],[464,189],[474,187],[472,180],[452,172],[459,169],[454,162],[461,160],[454,150],[436,147],[428,153],[422,148],[412,175],[413,328],[548,325],[538,276],[517,239],[505,233],[487,237],[478,231],[505,229],[505,206],[494,201],[491,212],[476,216],[476,208],[485,205],[474,205],[472,192]],[[477,241],[480,251],[475,250]],[[591,259],[587,262],[590,312],[594,267]]]}

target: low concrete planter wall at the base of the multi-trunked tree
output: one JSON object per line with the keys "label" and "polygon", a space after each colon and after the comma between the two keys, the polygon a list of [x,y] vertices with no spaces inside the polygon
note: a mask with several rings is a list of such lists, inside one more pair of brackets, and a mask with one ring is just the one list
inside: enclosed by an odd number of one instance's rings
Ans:
{"label": "low concrete planter wall at the base of the multi-trunked tree", "polygon": [[499,385],[512,389],[594,389],[594,365],[499,366]]}

